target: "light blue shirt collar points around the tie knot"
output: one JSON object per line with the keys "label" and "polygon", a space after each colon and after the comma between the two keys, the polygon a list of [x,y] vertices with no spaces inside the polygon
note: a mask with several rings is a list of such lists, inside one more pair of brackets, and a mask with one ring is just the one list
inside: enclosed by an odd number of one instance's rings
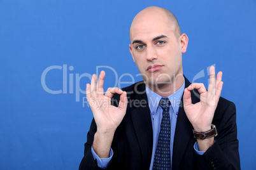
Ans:
{"label": "light blue shirt collar points around the tie knot", "polygon": [[[171,101],[171,106],[173,108],[173,112],[175,117],[178,116],[178,111],[180,108],[180,101],[183,95],[183,91],[185,89],[185,79],[183,77],[183,84],[182,86],[175,91],[173,94],[167,96]],[[154,117],[155,113],[157,112],[157,108],[159,107],[159,101],[161,100],[162,96],[158,95],[157,93],[153,92],[150,88],[146,86],[146,96],[148,97],[148,106],[150,108],[150,114]]]}

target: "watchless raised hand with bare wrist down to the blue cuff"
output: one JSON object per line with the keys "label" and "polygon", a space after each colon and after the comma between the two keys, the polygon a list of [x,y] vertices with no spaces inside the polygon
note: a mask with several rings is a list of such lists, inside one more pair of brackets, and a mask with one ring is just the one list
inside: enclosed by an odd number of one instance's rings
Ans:
{"label": "watchless raised hand with bare wrist down to the blue cuff", "polygon": [[[97,125],[92,148],[100,158],[109,157],[115,130],[124,118],[127,108],[127,93],[125,91],[119,88],[108,88],[104,95],[104,77],[105,72],[101,71],[97,82],[97,76],[94,74],[91,83],[86,86],[87,101]],[[111,98],[115,93],[120,95],[118,107],[111,105]]]}

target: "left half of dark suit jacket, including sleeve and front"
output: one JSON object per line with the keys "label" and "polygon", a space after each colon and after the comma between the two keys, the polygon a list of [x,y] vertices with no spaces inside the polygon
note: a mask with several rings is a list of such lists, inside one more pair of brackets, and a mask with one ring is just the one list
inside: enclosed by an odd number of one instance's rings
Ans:
{"label": "left half of dark suit jacket, including sleeve and front", "polygon": [[[139,93],[133,93],[134,88]],[[107,169],[149,169],[153,146],[152,122],[148,105],[136,107],[132,101],[145,101],[145,84],[138,82],[124,88],[127,92],[128,106],[124,119],[115,131],[111,148],[113,157]],[[120,95],[115,94],[111,105],[117,106]],[[92,120],[87,143],[85,143],[84,157],[80,163],[80,169],[101,169],[91,153],[94,134],[97,131],[96,122]]]}

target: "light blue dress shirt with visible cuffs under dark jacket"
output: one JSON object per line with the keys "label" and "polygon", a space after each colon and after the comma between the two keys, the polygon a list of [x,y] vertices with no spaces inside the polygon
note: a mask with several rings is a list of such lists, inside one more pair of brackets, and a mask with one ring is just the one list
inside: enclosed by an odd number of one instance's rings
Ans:
{"label": "light blue dress shirt with visible cuffs under dark jacket", "polygon": [[[174,134],[176,129],[176,122],[178,117],[178,111],[180,108],[180,101],[185,89],[185,79],[183,78],[183,84],[175,93],[170,96],[167,96],[171,101],[171,107],[169,108],[170,120],[171,120],[171,162],[173,160],[173,141],[174,141]],[[157,141],[160,132],[160,124],[162,120],[162,108],[159,107],[159,101],[161,100],[162,96],[158,95],[157,93],[153,92],[150,88],[146,86],[146,96],[148,98],[148,106],[150,108],[150,116],[152,121],[152,128],[153,128],[153,148],[152,148],[152,158],[150,169],[153,167],[153,159],[155,157],[155,150],[157,149]],[[191,131],[192,133],[192,131]],[[199,151],[199,147],[197,142],[194,144],[194,149],[196,153],[199,155],[203,155],[204,152]],[[110,157],[109,158],[99,158],[99,156],[94,152],[93,148],[91,148],[92,155],[94,160],[97,159],[97,166],[101,168],[106,168],[108,163],[113,157],[113,150],[110,149]]]}

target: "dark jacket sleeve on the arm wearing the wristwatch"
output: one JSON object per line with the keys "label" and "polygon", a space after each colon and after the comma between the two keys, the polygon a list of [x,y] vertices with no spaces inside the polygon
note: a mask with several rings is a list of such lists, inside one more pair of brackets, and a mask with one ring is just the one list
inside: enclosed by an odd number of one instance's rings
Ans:
{"label": "dark jacket sleeve on the arm wearing the wristwatch", "polygon": [[231,101],[220,98],[213,124],[218,135],[215,143],[204,155],[196,155],[200,169],[241,169],[238,153],[236,107]]}

